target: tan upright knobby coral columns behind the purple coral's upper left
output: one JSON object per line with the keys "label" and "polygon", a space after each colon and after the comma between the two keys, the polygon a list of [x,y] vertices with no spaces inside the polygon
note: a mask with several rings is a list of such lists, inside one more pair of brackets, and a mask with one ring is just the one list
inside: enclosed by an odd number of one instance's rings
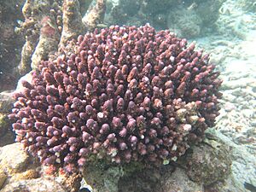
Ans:
{"label": "tan upright knobby coral columns behind the purple coral's upper left", "polygon": [[[41,60],[47,60],[48,57],[54,57],[55,52],[65,52],[65,44],[67,40],[77,38],[79,34],[87,29],[93,29],[90,24],[102,22],[104,15],[105,1],[97,0],[102,7],[97,7],[97,11],[101,14],[94,17],[85,18],[83,21],[87,23],[85,26],[82,22],[80,11],[90,14],[94,11],[94,5],[91,5],[92,10],[87,10],[91,1],[84,0],[26,0],[22,14],[25,20],[20,21],[20,27],[16,28],[26,37],[21,52],[20,64],[15,68],[16,73],[25,75],[31,69],[35,70]],[[81,7],[79,6],[81,3]],[[100,17],[100,18],[99,18]],[[85,29],[85,27],[87,27]]]}

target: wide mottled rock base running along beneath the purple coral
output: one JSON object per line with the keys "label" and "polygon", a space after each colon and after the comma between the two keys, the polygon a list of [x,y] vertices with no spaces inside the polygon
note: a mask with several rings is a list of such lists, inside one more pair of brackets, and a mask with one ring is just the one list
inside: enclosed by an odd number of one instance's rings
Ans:
{"label": "wide mottled rock base running along beneath the purple coral", "polygon": [[[230,180],[230,148],[213,135],[189,149],[176,163],[145,168],[143,165],[106,166],[104,162],[87,166],[84,179],[92,191],[195,192]],[[131,169],[132,168],[132,169]],[[214,185],[215,186],[215,185]],[[224,189],[224,184],[218,191]]]}

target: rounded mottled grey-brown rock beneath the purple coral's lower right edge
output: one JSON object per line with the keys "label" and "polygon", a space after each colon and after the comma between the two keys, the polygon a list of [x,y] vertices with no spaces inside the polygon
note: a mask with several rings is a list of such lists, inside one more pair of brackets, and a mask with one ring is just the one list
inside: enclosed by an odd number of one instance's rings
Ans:
{"label": "rounded mottled grey-brown rock beneath the purple coral's lower right edge", "polygon": [[231,171],[230,148],[224,143],[206,138],[186,155],[187,174],[192,181],[210,185],[222,181]]}

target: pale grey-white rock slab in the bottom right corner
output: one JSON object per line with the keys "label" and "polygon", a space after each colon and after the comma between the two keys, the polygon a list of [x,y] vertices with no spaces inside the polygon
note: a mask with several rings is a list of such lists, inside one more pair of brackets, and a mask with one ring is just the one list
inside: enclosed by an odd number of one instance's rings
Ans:
{"label": "pale grey-white rock slab in the bottom right corner", "polygon": [[255,150],[247,148],[245,145],[238,145],[232,141],[232,138],[224,136],[220,131],[210,129],[212,135],[221,139],[224,146],[230,148],[226,151],[230,155],[232,166],[230,166],[230,175],[224,181],[218,181],[207,186],[207,189],[216,189],[221,192],[229,191],[248,191],[244,184],[250,183],[256,186],[255,177]]}

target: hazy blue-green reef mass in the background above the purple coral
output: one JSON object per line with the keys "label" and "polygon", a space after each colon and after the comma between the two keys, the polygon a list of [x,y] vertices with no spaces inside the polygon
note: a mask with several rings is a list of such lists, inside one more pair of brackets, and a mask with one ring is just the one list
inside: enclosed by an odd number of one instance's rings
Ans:
{"label": "hazy blue-green reef mass in the background above the purple coral", "polygon": [[156,29],[169,28],[184,38],[195,38],[216,29],[214,23],[224,1],[119,0],[119,4],[108,6],[105,22],[136,26],[150,23]]}

